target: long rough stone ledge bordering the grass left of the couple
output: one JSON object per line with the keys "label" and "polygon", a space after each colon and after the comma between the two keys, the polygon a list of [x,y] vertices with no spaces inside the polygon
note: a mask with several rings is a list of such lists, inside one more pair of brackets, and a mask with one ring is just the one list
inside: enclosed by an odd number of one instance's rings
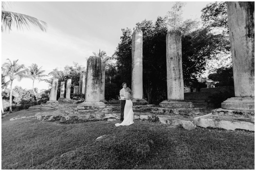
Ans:
{"label": "long rough stone ledge bordering the grass left of the couple", "polygon": [[99,121],[99,120],[107,120],[107,119],[120,119],[120,114],[84,114],[84,115],[66,115],[62,116],[60,122],[67,123],[77,123],[77,122],[86,122],[86,121]]}

